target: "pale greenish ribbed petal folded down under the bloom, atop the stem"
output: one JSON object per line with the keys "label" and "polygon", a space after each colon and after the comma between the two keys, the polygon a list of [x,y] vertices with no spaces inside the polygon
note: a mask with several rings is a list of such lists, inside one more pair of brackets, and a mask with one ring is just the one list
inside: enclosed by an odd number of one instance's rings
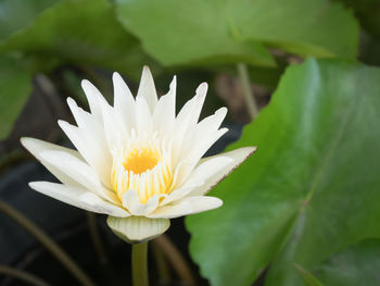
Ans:
{"label": "pale greenish ribbed petal folded down under the bloom, atop the stem", "polygon": [[144,216],[124,219],[109,216],[106,223],[119,238],[129,244],[153,239],[165,233],[170,226],[170,221],[167,219],[148,219]]}

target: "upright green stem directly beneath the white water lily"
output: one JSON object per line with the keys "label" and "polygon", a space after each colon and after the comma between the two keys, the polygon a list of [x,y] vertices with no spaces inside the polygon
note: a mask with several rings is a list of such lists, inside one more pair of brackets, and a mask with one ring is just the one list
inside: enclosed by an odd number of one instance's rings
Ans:
{"label": "upright green stem directly beneath the white water lily", "polygon": [[132,245],[132,282],[148,286],[148,241]]}

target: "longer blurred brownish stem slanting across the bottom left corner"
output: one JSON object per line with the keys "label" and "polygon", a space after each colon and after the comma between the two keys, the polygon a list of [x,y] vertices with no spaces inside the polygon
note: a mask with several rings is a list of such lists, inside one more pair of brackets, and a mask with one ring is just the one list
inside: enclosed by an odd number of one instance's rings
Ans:
{"label": "longer blurred brownish stem slanting across the bottom left corner", "polygon": [[39,243],[41,243],[67,269],[67,271],[69,271],[80,282],[81,285],[94,285],[91,279],[85,274],[85,272],[74,262],[73,259],[68,257],[68,254],[59,245],[56,245],[47,234],[42,232],[41,228],[25,217],[21,212],[2,200],[0,200],[0,211],[23,226]]}

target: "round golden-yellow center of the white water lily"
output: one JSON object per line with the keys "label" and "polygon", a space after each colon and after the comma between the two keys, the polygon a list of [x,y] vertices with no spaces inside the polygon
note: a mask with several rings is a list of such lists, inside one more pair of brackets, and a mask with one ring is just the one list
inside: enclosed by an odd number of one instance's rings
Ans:
{"label": "round golden-yellow center of the white water lily", "polygon": [[152,170],[159,163],[160,154],[153,148],[134,148],[129,151],[123,165],[128,172],[141,174],[148,170]]}

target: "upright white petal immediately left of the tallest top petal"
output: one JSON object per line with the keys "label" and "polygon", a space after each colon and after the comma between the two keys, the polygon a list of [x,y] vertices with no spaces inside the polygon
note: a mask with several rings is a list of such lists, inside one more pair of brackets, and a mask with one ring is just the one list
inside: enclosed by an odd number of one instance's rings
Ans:
{"label": "upright white petal immediately left of the tallest top petal", "polygon": [[127,130],[135,126],[135,98],[118,73],[112,76],[114,84],[114,109]]}

